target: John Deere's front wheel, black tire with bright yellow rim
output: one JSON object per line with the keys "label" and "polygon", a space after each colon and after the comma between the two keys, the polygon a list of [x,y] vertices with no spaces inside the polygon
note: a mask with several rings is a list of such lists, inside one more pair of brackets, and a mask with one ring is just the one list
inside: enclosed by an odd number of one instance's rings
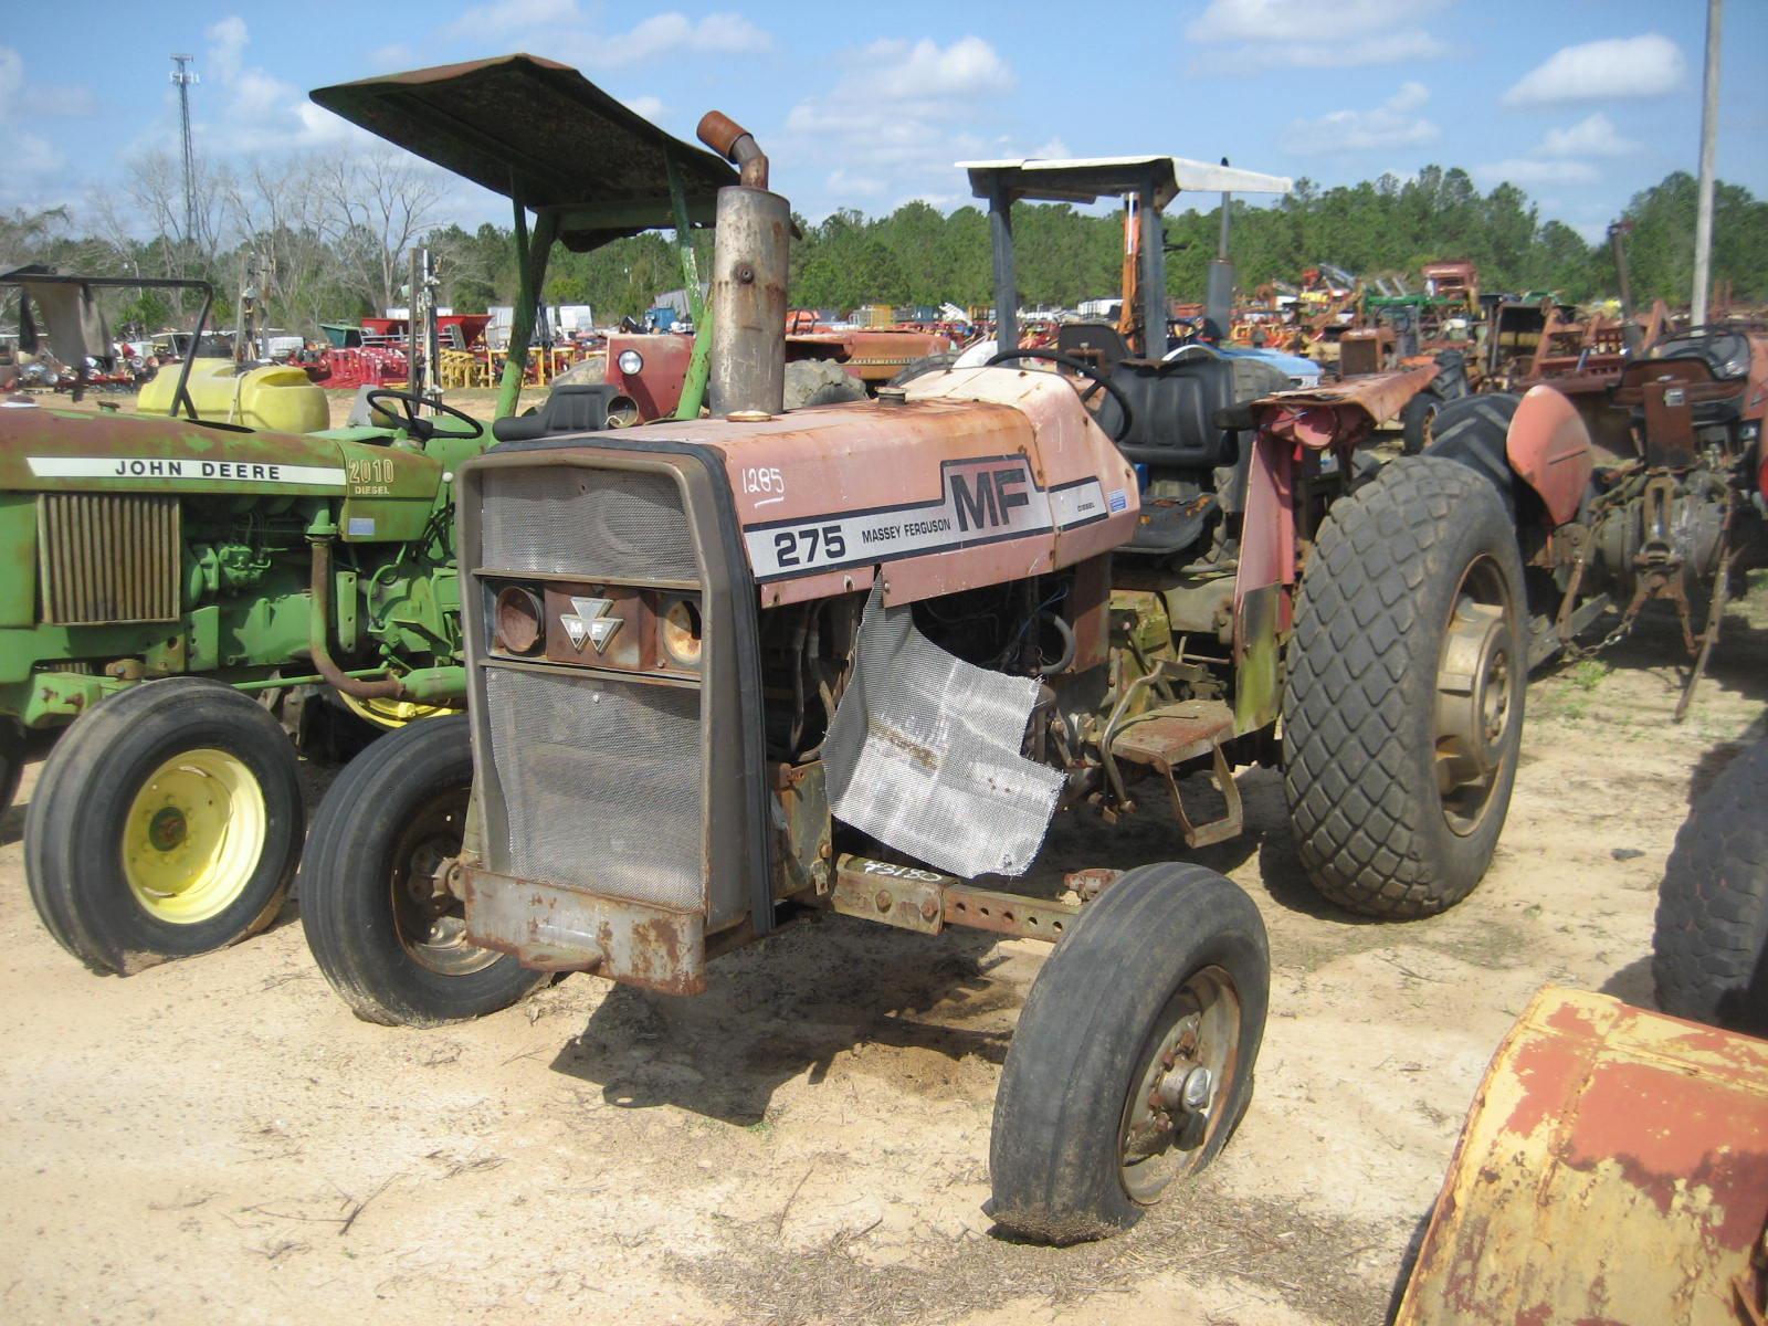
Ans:
{"label": "John Deere's front wheel, black tire with bright yellow rim", "polygon": [[101,976],[233,944],[288,893],[306,812],[267,709],[202,677],[108,697],[57,743],[25,815],[25,877]]}

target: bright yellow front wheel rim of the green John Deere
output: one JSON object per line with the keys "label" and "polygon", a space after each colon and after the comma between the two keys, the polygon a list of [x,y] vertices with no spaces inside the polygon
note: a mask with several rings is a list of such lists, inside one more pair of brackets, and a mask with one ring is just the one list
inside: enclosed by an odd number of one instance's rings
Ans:
{"label": "bright yellow front wheel rim of the green John Deere", "polygon": [[232,905],[267,836],[263,789],[225,750],[191,750],[154,769],[124,820],[122,872],[147,912],[196,925]]}

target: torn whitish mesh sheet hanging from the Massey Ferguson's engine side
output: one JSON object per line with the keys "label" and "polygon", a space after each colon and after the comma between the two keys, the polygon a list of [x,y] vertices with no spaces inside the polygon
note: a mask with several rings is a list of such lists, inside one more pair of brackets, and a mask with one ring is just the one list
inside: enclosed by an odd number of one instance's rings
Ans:
{"label": "torn whitish mesh sheet hanging from the Massey Ferguson's engine side", "polygon": [[1033,677],[953,658],[873,587],[822,746],[834,817],[955,875],[1020,875],[1063,776],[1020,755]]}

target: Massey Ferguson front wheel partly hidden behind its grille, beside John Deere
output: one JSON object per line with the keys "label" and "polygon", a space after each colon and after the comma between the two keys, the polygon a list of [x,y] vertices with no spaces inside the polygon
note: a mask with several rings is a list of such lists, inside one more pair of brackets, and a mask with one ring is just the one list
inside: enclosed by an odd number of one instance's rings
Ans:
{"label": "Massey Ferguson front wheel partly hidden behind its grille, beside John Deere", "polygon": [[467,942],[460,900],[428,888],[460,854],[470,792],[467,716],[426,718],[362,751],[313,817],[301,925],[325,979],[364,1022],[461,1022],[546,979]]}

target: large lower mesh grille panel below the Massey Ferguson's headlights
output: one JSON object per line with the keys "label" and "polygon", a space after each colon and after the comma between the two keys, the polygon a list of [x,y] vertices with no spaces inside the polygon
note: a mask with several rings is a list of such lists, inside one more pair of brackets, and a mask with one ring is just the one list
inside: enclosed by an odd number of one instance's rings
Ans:
{"label": "large lower mesh grille panel below the Massey Ferguson's headlights", "polygon": [[700,691],[486,670],[511,875],[697,909]]}

